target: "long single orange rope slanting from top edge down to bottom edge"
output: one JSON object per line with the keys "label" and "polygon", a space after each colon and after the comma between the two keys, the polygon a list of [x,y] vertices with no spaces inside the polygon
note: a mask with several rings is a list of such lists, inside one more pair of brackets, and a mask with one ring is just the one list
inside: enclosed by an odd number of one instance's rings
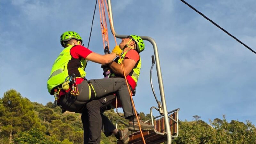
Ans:
{"label": "long single orange rope slanting from top edge down to bottom edge", "polygon": [[[109,22],[110,22],[110,27],[111,27],[112,30],[113,30],[113,35],[114,35],[115,43],[116,43],[116,45],[117,45],[116,36],[115,36],[113,24],[112,24],[112,22],[111,22],[111,20],[110,20],[110,14],[109,14],[109,11],[108,11],[108,5],[107,5],[107,1],[106,1],[106,0],[105,0],[105,4],[106,4],[107,12],[108,12],[108,18],[109,18]],[[131,93],[130,87],[129,87],[129,85],[128,85],[128,81],[127,81],[126,74],[125,74],[125,71],[124,71],[124,65],[123,65],[123,62],[122,62],[122,59],[121,59],[121,55],[120,55],[120,54],[119,54],[119,59],[120,59],[120,61],[121,61],[121,66],[122,66],[122,69],[123,69],[124,78],[125,78],[126,85],[127,85],[127,88],[128,88],[129,94],[130,94],[130,98],[131,98],[131,101],[132,101],[132,106],[133,106],[133,108],[134,108],[135,115],[136,115],[136,118],[137,118],[137,121],[138,121],[138,124],[139,124],[141,137],[142,137],[142,140],[143,140],[144,144],[146,144],[145,139],[144,139],[144,136],[143,136],[143,133],[142,133],[142,130],[141,130],[141,127],[140,127],[140,121],[139,121],[139,118],[138,118],[138,115],[137,115],[137,112],[136,112],[136,108],[135,108],[135,105],[134,105],[134,102],[133,102],[133,99],[132,99],[132,93]]]}

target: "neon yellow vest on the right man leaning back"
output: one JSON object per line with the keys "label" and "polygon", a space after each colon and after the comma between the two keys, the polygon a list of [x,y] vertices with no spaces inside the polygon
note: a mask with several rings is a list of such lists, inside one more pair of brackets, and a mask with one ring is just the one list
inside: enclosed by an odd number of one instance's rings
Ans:
{"label": "neon yellow vest on the right man leaning back", "polygon": [[[132,50],[132,49],[130,49]],[[122,55],[121,55],[121,59],[122,61],[124,60],[124,57],[126,55],[127,52],[129,52],[130,50],[124,52]],[[139,55],[140,57],[140,55]],[[117,61],[118,60],[118,61]],[[118,64],[121,64],[121,61],[119,59],[119,57],[117,57],[115,59],[115,62],[117,62]],[[128,80],[128,83],[131,85],[131,87],[133,89],[135,89],[136,85],[137,85],[137,82],[138,82],[138,78],[139,78],[139,75],[140,75],[140,68],[141,68],[141,59],[139,59],[137,61],[137,63],[135,64],[134,68],[132,69],[132,71],[126,76],[127,77],[127,80]],[[116,76],[114,73],[111,73],[110,76]],[[131,78],[129,78],[131,77]],[[133,81],[133,82],[132,82]],[[134,84],[133,84],[134,83]]]}

